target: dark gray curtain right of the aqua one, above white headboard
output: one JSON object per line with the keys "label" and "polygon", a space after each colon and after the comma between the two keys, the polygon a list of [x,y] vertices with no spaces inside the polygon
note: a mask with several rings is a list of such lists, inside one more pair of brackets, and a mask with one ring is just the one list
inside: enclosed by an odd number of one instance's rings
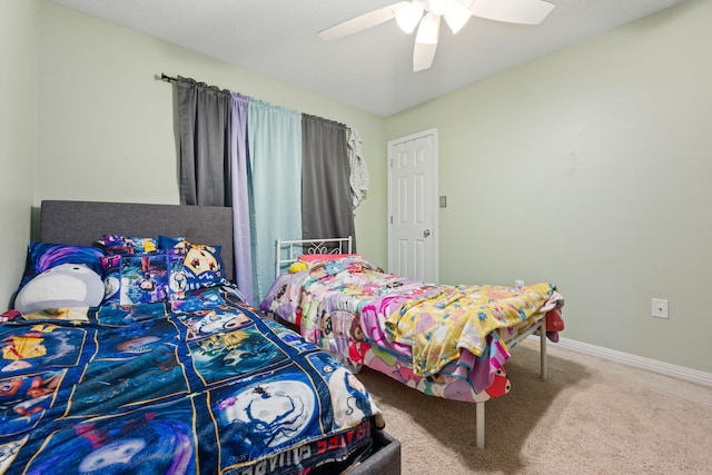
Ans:
{"label": "dark gray curtain right of the aqua one, above white headboard", "polygon": [[354,237],[348,128],[301,115],[301,235],[304,239]]}

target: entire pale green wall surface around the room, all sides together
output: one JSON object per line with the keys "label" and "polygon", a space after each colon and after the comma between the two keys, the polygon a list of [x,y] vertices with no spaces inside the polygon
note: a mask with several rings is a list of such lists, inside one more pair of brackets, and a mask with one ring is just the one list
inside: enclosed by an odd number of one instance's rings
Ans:
{"label": "entire pale green wall surface around the room, all sides together", "polygon": [[[384,119],[44,0],[0,0],[0,301],[42,199],[178,202],[166,72],[359,129],[359,251],[382,266],[387,141],[437,128],[443,283],[555,283],[563,336],[712,373],[706,18],[712,2],[688,0]],[[669,320],[650,316],[653,297]]]}

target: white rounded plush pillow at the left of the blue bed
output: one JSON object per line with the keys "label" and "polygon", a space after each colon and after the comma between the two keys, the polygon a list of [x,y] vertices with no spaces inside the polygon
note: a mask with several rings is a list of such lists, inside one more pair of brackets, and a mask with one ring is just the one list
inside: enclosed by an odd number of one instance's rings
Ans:
{"label": "white rounded plush pillow at the left of the blue bed", "polygon": [[60,307],[97,307],[103,298],[101,277],[81,264],[61,264],[37,275],[18,291],[22,314]]}

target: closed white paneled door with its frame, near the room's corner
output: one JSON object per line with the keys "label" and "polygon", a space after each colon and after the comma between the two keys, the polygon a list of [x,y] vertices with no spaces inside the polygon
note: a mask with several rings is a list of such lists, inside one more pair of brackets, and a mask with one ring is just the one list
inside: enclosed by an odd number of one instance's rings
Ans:
{"label": "closed white paneled door with its frame, near the room's corner", "polygon": [[388,142],[388,271],[437,283],[437,130]]}

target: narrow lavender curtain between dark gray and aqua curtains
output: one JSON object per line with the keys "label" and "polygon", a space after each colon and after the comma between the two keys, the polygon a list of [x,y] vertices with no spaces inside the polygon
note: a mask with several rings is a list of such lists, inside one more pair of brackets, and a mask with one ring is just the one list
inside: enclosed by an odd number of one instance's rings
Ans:
{"label": "narrow lavender curtain between dark gray and aqua curtains", "polygon": [[249,98],[233,92],[230,128],[230,185],[233,187],[233,236],[235,243],[235,283],[250,305],[253,291],[253,249],[250,238],[247,111]]}

